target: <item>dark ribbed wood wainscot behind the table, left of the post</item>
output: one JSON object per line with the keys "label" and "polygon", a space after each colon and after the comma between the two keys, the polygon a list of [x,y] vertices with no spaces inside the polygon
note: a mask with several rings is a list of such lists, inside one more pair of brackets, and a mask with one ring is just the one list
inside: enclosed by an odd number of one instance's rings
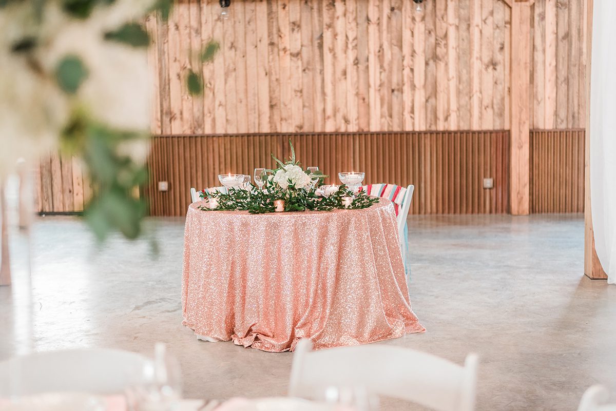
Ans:
{"label": "dark ribbed wood wainscot behind the table, left of the post", "polygon": [[[274,166],[270,153],[288,156],[288,138],[304,167],[363,170],[366,183],[415,185],[411,213],[508,212],[508,132],[400,132],[163,136],[153,140],[152,215],[185,215],[190,187],[219,185],[216,175]],[[388,159],[384,161],[383,159]],[[482,178],[494,178],[484,190]],[[157,190],[159,181],[169,191]]]}

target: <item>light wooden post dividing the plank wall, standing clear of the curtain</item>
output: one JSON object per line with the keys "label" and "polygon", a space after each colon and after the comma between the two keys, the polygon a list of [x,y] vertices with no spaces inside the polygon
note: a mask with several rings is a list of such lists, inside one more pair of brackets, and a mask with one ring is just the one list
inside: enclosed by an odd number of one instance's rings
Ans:
{"label": "light wooden post dividing the plank wall, standing clear of the curtain", "polygon": [[508,0],[511,7],[511,163],[512,215],[530,212],[530,7],[535,0]]}

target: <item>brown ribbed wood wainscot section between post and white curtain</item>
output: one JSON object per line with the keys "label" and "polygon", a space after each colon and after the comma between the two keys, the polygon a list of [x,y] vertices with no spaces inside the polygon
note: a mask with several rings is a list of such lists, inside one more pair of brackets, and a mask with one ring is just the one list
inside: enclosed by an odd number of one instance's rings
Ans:
{"label": "brown ribbed wood wainscot section between post and white curtain", "polygon": [[583,129],[530,132],[530,212],[584,211]]}

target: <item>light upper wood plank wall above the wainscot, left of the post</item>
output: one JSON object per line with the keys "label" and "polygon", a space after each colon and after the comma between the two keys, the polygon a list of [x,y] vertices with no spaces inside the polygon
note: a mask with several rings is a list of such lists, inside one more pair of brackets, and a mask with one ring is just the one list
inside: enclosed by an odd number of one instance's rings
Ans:
{"label": "light upper wood plank wall above the wainscot, left of the post", "polygon": [[[578,1],[578,0],[571,0]],[[150,18],[153,134],[509,128],[502,0],[181,0]],[[193,57],[209,39],[214,62]],[[188,69],[202,71],[190,97]]]}

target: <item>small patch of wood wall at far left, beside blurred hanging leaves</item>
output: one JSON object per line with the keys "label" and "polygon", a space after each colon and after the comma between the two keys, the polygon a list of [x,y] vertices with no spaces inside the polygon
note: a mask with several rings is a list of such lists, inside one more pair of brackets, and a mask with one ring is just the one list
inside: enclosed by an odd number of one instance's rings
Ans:
{"label": "small patch of wood wall at far left, beside blurred hanging leaves", "polygon": [[42,158],[33,178],[39,213],[80,212],[92,196],[92,185],[81,162],[65,154],[51,153]]}

